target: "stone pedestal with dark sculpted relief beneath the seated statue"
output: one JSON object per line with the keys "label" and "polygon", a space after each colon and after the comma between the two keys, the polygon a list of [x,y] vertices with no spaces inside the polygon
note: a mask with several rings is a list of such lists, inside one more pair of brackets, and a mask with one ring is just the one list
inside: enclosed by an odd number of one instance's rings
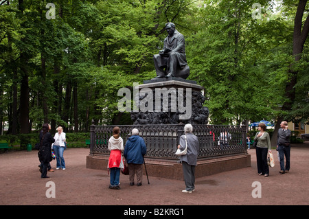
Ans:
{"label": "stone pedestal with dark sculpted relief beneath the seated statue", "polygon": [[204,87],[183,78],[153,78],[135,87],[134,124],[207,124]]}

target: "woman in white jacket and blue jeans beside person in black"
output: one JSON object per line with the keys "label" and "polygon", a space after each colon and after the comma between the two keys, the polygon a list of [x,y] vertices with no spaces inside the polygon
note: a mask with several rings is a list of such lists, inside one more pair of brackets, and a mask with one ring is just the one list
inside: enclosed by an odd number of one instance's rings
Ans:
{"label": "woman in white jacket and blue jeans beside person in black", "polygon": [[56,154],[56,170],[59,170],[60,168],[65,170],[65,159],[63,158],[63,151],[65,150],[65,132],[63,132],[61,126],[59,126],[57,130],[58,132],[54,136],[55,143],[52,146]]}

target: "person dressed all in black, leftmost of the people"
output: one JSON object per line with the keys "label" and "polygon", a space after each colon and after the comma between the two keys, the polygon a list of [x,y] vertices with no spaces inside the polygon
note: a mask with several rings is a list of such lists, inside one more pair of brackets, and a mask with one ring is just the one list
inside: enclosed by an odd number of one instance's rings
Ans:
{"label": "person dressed all in black, leftmost of the people", "polygon": [[52,161],[52,143],[55,139],[48,132],[49,124],[44,124],[40,132],[40,149],[38,150],[38,158],[41,162],[41,178],[49,178],[47,176],[47,167],[49,162]]}

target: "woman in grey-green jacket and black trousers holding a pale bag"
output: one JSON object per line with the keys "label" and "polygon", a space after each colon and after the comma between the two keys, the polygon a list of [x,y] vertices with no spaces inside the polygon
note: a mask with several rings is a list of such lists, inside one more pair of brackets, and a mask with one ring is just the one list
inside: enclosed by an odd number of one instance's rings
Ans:
{"label": "woman in grey-green jacket and black trousers holding a pale bag", "polygon": [[258,174],[269,176],[269,167],[267,163],[267,154],[271,153],[271,138],[268,132],[266,132],[266,125],[260,123],[258,130],[254,137],[254,141],[258,140],[256,145],[256,161],[258,165]]}

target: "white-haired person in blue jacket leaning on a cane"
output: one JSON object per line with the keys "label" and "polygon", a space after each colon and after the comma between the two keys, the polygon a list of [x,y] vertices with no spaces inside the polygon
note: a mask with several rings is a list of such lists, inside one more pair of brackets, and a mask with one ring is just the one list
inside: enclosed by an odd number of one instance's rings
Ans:
{"label": "white-haired person in blue jacket leaning on a cane", "polygon": [[128,138],[126,146],[124,147],[124,157],[128,163],[130,185],[134,185],[134,177],[136,174],[137,186],[141,186],[144,155],[146,151],[146,143],[144,139],[139,136],[139,130],[133,128],[132,136]]}

